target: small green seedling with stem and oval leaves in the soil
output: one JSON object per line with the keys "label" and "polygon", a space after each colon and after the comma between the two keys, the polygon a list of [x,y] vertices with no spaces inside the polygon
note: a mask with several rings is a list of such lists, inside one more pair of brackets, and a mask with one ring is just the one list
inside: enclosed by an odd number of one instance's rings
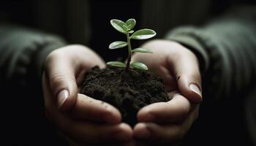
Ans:
{"label": "small green seedling with stem and oval leaves in the soil", "polygon": [[[151,50],[148,50],[146,48],[140,48],[140,47],[132,49],[131,39],[149,39],[151,37],[154,37],[157,33],[148,28],[140,29],[138,31],[133,31],[132,28],[134,28],[135,24],[136,24],[135,19],[129,19],[125,23],[121,20],[112,19],[112,20],[110,20],[110,23],[113,26],[113,28],[116,29],[116,31],[119,31],[122,34],[127,35],[127,42],[124,42],[124,41],[112,42],[109,45],[109,48],[110,49],[118,49],[121,47],[128,46],[128,58],[127,58],[126,64],[124,64],[121,61],[109,61],[107,64],[110,66],[125,68],[126,71],[129,68],[148,70],[148,67],[145,64],[143,64],[141,62],[135,62],[135,61],[131,62],[131,59],[132,59],[132,53],[135,53],[135,52],[137,52],[137,53],[152,53]],[[130,36],[130,34],[131,34],[131,36]]]}

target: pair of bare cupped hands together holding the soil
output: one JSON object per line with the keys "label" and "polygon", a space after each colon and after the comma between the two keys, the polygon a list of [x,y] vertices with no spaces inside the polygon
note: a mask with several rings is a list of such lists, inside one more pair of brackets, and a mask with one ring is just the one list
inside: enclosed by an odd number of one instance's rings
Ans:
{"label": "pair of bare cupped hands together holding the soil", "polygon": [[78,93],[87,69],[105,67],[99,55],[83,45],[61,47],[48,55],[42,77],[46,115],[73,144],[139,145],[138,139],[173,143],[187,133],[202,101],[196,56],[177,42],[153,40],[142,47],[153,54],[135,53],[133,61],[147,64],[164,78],[171,100],[143,107],[133,129],[121,123],[115,107]]}

